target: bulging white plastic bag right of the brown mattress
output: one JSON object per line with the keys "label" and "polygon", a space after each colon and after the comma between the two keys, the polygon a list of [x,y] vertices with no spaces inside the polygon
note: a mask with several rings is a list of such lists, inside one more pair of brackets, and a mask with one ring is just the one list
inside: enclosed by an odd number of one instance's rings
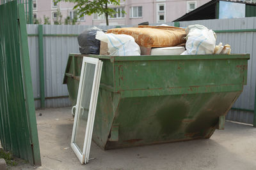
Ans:
{"label": "bulging white plastic bag right of the brown mattress", "polygon": [[186,51],[181,55],[212,54],[216,44],[216,34],[204,25],[189,25],[186,28]]}

